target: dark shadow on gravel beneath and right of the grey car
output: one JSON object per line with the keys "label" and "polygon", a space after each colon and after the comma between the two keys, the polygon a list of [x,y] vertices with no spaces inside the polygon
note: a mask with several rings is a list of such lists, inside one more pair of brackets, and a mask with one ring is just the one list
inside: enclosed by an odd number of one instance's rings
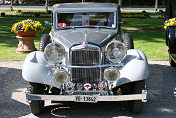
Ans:
{"label": "dark shadow on gravel beneath and right of the grey car", "polygon": [[67,102],[44,108],[40,118],[112,118],[112,117],[174,117],[176,116],[176,68],[149,64],[150,76],[146,80],[148,101],[140,114],[132,114],[127,102],[98,102],[97,104]]}

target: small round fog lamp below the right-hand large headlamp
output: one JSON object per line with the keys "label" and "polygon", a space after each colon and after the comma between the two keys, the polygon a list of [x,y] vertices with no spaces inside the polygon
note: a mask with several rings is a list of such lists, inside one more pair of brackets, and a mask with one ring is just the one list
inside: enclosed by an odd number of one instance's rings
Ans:
{"label": "small round fog lamp below the right-hand large headlamp", "polygon": [[110,67],[105,69],[104,71],[104,78],[109,82],[114,82],[118,80],[120,77],[120,72],[117,68]]}

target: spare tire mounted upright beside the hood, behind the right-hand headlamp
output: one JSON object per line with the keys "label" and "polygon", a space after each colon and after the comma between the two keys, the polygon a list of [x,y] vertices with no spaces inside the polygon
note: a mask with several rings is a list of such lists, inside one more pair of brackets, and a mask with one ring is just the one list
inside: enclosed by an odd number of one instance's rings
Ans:
{"label": "spare tire mounted upright beside the hood, behind the right-hand headlamp", "polygon": [[127,50],[134,49],[133,38],[130,34],[125,33],[122,35],[122,42],[125,44]]}

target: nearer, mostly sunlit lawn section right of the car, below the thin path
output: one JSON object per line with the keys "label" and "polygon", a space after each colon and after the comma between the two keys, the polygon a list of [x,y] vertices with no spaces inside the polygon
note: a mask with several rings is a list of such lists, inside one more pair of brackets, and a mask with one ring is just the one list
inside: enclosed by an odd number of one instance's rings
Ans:
{"label": "nearer, mostly sunlit lawn section right of the car, below the thin path", "polygon": [[143,51],[148,60],[168,59],[164,32],[130,32],[135,49]]}

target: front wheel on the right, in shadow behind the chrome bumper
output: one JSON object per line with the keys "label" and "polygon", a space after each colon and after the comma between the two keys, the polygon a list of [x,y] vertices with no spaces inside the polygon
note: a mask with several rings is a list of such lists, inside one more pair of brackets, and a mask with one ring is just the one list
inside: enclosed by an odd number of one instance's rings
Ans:
{"label": "front wheel on the right, in shadow behind the chrome bumper", "polygon": [[[131,93],[132,94],[141,94],[142,90],[145,89],[145,80],[133,82],[131,84]],[[131,113],[138,114],[143,109],[143,102],[142,100],[134,100],[129,101],[129,110]]]}

